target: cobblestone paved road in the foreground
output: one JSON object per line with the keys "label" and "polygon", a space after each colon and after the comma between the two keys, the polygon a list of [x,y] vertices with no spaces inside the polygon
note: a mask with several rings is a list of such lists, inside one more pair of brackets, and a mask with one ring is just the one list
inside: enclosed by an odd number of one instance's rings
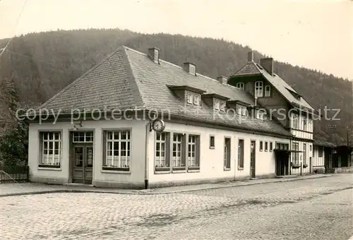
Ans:
{"label": "cobblestone paved road in the foreground", "polygon": [[0,198],[0,239],[349,239],[353,175],[165,195]]}

